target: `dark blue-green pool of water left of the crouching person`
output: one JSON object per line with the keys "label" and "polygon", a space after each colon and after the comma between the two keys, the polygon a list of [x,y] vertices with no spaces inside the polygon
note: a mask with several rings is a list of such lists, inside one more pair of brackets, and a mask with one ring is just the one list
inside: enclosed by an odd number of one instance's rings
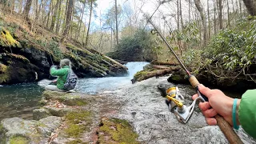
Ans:
{"label": "dark blue-green pool of water left of the crouching person", "polygon": [[0,87],[0,121],[3,118],[30,119],[32,111],[39,106],[42,87],[36,83]]}

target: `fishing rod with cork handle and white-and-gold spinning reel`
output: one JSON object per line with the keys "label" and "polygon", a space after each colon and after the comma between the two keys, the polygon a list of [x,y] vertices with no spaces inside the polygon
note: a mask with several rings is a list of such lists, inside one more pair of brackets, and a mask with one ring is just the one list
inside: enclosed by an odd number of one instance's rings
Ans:
{"label": "fishing rod with cork handle and white-and-gold spinning reel", "polygon": [[[162,34],[158,31],[158,28],[156,26],[154,26],[154,23],[151,21],[150,18],[148,18],[146,16],[146,14],[144,14],[145,17],[147,18],[148,22],[150,22],[150,24],[154,27],[154,30],[156,30],[158,32],[158,34],[160,35],[160,37],[162,38],[162,40],[166,43],[166,45],[168,46],[168,48],[170,49],[170,51],[174,54],[175,58],[178,60],[178,62],[180,63],[180,65],[182,66],[182,69],[186,71],[186,74],[188,74],[189,76],[189,82],[191,84],[191,86],[194,87],[194,89],[197,91],[198,93],[198,98],[196,98],[194,100],[194,102],[191,104],[191,106],[185,106],[182,104],[182,102],[179,102],[178,100],[176,100],[175,98],[172,98],[170,96],[166,96],[168,99],[170,99],[171,101],[173,101],[178,107],[174,109],[174,114],[176,115],[177,118],[179,118],[182,122],[186,123],[192,112],[194,111],[194,105],[198,100],[202,100],[202,102],[208,102],[208,98],[203,95],[199,90],[198,90],[198,85],[200,84],[198,82],[198,79],[194,77],[193,74],[190,74],[190,71],[186,69],[186,66],[184,66],[184,64],[182,63],[182,61],[180,60],[180,58],[178,58],[178,55],[174,52],[174,49],[170,46],[170,44],[166,41],[166,38],[164,38],[162,36]],[[236,134],[234,132],[234,130],[232,129],[232,127],[230,126],[230,124],[228,122],[226,122],[226,120],[220,116],[219,114],[217,114],[216,116],[214,116],[214,118],[216,118],[217,120],[217,124],[219,126],[219,128],[222,130],[222,133],[226,136],[226,139],[230,142],[230,143],[243,143],[242,140],[238,137],[238,134]]]}

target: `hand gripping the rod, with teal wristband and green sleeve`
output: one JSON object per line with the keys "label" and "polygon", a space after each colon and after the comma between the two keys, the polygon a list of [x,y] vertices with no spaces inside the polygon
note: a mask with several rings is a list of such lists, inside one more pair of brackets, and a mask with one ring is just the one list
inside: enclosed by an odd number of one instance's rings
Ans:
{"label": "hand gripping the rod, with teal wristband and green sleeve", "polygon": [[[241,99],[227,97],[221,90],[210,90],[203,85],[199,85],[199,90],[209,98],[209,102],[198,105],[209,125],[217,125],[214,116],[220,114],[234,129],[238,130],[241,125],[247,134],[256,139],[256,89],[247,90]],[[197,97],[198,94],[194,94],[193,99]]]}

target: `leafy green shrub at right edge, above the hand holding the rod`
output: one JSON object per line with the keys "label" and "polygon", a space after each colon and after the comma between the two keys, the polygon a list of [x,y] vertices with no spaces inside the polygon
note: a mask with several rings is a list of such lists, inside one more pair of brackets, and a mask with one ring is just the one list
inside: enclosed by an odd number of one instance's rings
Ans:
{"label": "leafy green shrub at right edge, above the hand holding the rod", "polygon": [[256,54],[256,20],[243,20],[233,30],[222,30],[206,48],[206,58],[218,61],[226,70],[246,68]]}

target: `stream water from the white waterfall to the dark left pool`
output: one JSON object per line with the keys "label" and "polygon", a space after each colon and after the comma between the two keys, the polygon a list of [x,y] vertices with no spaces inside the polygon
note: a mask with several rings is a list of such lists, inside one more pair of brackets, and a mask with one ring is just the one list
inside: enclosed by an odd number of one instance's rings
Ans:
{"label": "stream water from the white waterfall to the dark left pool", "polygon": [[[123,77],[82,78],[76,91],[86,94],[97,94],[106,90],[117,90],[120,86],[131,85],[133,75],[143,69],[148,62],[128,62],[128,74]],[[20,117],[32,119],[32,111],[40,106],[43,87],[50,80],[37,83],[0,86],[0,121],[3,118]]]}

